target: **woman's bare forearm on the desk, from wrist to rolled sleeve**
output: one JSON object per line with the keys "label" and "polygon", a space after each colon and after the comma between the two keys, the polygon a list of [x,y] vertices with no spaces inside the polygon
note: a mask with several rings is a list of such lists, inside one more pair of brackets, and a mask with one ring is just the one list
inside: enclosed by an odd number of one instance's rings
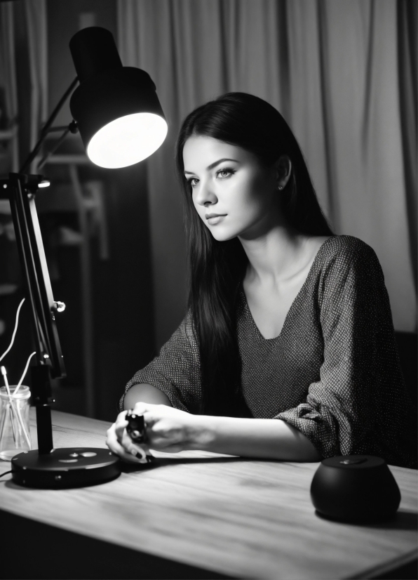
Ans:
{"label": "woman's bare forearm on the desk, from wrist to rolled sleeve", "polygon": [[190,449],[283,461],[322,459],[303,433],[280,419],[195,417]]}

